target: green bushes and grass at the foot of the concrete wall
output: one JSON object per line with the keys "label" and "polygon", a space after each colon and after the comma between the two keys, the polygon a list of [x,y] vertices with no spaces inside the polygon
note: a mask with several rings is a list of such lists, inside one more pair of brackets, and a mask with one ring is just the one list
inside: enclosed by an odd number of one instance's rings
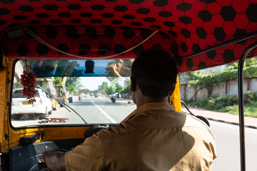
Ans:
{"label": "green bushes and grass at the foot of the concrete wall", "polygon": [[[209,98],[204,97],[202,100],[187,101],[190,106],[198,106],[217,112],[225,112],[238,115],[238,96],[224,95],[219,97],[218,94],[210,95]],[[257,92],[247,91],[244,94],[244,115],[249,117],[257,117]]]}

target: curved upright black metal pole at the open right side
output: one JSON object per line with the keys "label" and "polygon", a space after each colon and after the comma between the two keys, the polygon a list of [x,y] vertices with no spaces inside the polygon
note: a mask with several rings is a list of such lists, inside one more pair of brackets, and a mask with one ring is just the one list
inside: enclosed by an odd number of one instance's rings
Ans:
{"label": "curved upright black metal pole at the open right side", "polygon": [[238,106],[239,106],[239,129],[240,129],[240,159],[241,171],[245,171],[245,137],[244,137],[244,93],[243,93],[243,68],[244,60],[248,53],[257,47],[257,41],[248,46],[238,62]]}

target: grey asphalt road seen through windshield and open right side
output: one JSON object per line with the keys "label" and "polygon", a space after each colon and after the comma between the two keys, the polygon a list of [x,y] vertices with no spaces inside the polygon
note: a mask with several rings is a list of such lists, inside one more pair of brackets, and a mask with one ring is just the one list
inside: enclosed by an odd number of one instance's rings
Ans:
{"label": "grey asphalt road seen through windshield and open right side", "polygon": [[[83,97],[82,101],[78,100],[78,96],[73,96],[73,103],[69,103],[77,113],[84,118],[87,123],[119,123],[129,113],[136,109],[136,105],[130,101],[117,99],[116,103],[112,103],[109,98],[104,97]],[[41,123],[41,124],[83,124],[82,119],[74,112],[68,112],[64,107],[58,107],[57,111],[53,111],[51,118],[67,118],[65,123]],[[39,122],[47,120],[13,120],[15,126],[21,125],[40,125]],[[240,142],[239,142],[239,126],[209,121],[212,134],[214,136],[218,157],[214,160],[212,171],[220,170],[240,170]],[[257,170],[257,129],[245,128],[246,142],[246,170]]]}

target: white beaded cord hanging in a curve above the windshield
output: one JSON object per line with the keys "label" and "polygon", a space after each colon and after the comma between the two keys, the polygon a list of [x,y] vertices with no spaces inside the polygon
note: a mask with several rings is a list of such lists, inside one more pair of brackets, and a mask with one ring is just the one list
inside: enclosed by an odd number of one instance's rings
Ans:
{"label": "white beaded cord hanging in a curve above the windshield", "polygon": [[69,54],[67,52],[63,52],[62,50],[59,50],[55,47],[53,47],[52,45],[48,44],[47,42],[45,42],[44,40],[42,40],[41,38],[39,38],[37,35],[35,35],[31,30],[29,30],[29,28],[27,27],[23,27],[31,36],[33,36],[36,40],[38,40],[39,42],[45,44],[46,46],[48,46],[49,48],[53,49],[53,50],[56,50],[58,52],[61,52],[63,54],[66,54],[66,55],[69,55],[69,56],[74,56],[74,57],[77,57],[77,58],[85,58],[85,59],[107,59],[107,58],[112,58],[114,56],[118,56],[118,55],[121,55],[121,54],[124,54],[134,48],[136,48],[137,46],[139,46],[140,44],[144,43],[146,40],[148,40],[149,38],[151,38],[155,33],[158,32],[158,30],[154,31],[150,36],[148,36],[146,39],[144,39],[141,43],[137,44],[136,46],[124,51],[124,52],[121,52],[119,54],[115,54],[115,55],[111,55],[111,56],[103,56],[103,57],[97,57],[97,58],[92,58],[92,57],[82,57],[82,56],[77,56],[77,55],[73,55],[73,54]]}

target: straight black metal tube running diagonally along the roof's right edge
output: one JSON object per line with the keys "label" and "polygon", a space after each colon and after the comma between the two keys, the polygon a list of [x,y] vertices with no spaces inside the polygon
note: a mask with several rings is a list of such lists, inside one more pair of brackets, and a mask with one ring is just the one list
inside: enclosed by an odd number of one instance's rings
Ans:
{"label": "straight black metal tube running diagonally along the roof's right edge", "polygon": [[227,45],[230,45],[230,44],[233,44],[233,43],[236,43],[236,42],[240,42],[242,40],[246,40],[248,38],[251,38],[251,37],[254,37],[254,36],[257,36],[257,31],[253,32],[253,33],[250,33],[250,34],[246,34],[246,35],[243,35],[243,36],[240,36],[239,38],[236,38],[236,39],[233,39],[233,40],[230,40],[228,42],[224,42],[224,43],[221,43],[217,46],[213,46],[211,48],[208,48],[206,50],[203,50],[201,52],[198,52],[198,53],[195,53],[195,54],[192,54],[192,55],[188,55],[188,56],[185,56],[184,58],[181,58],[180,60],[185,60],[185,59],[188,59],[188,58],[192,58],[194,56],[197,56],[197,55],[200,55],[200,54],[204,54],[206,52],[210,52],[212,50],[215,50],[215,49],[218,49],[218,48],[221,48],[221,47],[224,47],[224,46],[227,46]]}

